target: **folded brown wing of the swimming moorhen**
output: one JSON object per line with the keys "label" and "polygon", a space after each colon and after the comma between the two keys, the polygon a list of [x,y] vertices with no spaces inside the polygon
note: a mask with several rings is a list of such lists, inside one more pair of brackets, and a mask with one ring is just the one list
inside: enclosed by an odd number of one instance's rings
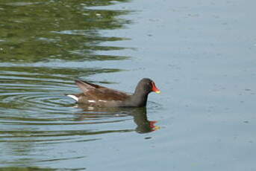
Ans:
{"label": "folded brown wing of the swimming moorhen", "polygon": [[75,80],[75,83],[83,91],[88,99],[92,100],[126,100],[129,94],[112,88],[106,88],[93,83]]}

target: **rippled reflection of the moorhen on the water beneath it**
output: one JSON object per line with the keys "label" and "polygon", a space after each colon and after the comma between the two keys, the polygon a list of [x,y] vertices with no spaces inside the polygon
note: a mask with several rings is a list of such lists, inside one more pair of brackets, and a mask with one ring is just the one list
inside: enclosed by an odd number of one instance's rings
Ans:
{"label": "rippled reflection of the moorhen on the water beneath it", "polygon": [[[137,127],[137,133],[148,133],[160,129],[160,126],[155,126],[156,120],[148,120],[146,107],[140,108],[98,108],[92,106],[84,106],[77,104],[80,109],[83,109],[77,120],[87,120],[88,123],[116,123],[124,120],[130,120],[128,116],[134,117],[134,123]],[[114,118],[118,118],[115,120]],[[123,118],[123,119],[122,119]],[[113,120],[114,119],[114,120]],[[134,129],[131,129],[133,131]]]}

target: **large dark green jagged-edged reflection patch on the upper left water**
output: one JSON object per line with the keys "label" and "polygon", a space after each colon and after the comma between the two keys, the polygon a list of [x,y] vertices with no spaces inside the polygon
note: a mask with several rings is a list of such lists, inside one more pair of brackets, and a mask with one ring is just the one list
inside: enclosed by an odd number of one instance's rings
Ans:
{"label": "large dark green jagged-edged reflection patch on the upper left water", "polygon": [[[97,5],[113,4],[96,1]],[[125,47],[103,46],[102,42],[122,41],[119,36],[103,36],[130,22],[119,19],[128,10],[88,10],[84,1],[1,1],[0,62],[40,62],[50,59],[127,59],[125,56],[97,56],[97,51],[120,51]],[[75,54],[72,52],[79,52]],[[81,55],[83,54],[83,55]]]}

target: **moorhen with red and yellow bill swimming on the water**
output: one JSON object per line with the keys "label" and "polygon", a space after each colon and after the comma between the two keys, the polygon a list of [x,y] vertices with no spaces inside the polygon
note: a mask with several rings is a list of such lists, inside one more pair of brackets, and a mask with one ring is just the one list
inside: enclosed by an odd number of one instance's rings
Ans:
{"label": "moorhen with red and yellow bill swimming on the water", "polygon": [[83,91],[80,94],[66,94],[78,103],[87,106],[102,107],[142,107],[146,106],[148,95],[154,91],[160,93],[154,81],[143,78],[137,84],[134,94],[127,94],[112,88],[106,88],[82,80],[75,80],[76,85]]}

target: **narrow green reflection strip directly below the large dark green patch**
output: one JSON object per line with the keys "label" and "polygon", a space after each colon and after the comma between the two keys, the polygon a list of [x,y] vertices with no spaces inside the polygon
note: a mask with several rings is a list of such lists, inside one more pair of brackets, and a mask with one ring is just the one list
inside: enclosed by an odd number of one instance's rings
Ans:
{"label": "narrow green reflection strip directly below the large dark green patch", "polygon": [[[47,84],[53,82],[66,83],[67,80],[74,80],[77,77],[89,77],[93,74],[112,73],[123,71],[116,68],[49,68],[49,67],[34,67],[34,66],[1,66],[0,79],[1,83],[11,82],[11,78],[15,80],[21,80],[29,82],[31,80],[37,80],[40,85],[47,82]],[[40,81],[41,80],[41,81]],[[16,81],[14,82],[16,83]],[[18,85],[19,86],[19,85]]]}

